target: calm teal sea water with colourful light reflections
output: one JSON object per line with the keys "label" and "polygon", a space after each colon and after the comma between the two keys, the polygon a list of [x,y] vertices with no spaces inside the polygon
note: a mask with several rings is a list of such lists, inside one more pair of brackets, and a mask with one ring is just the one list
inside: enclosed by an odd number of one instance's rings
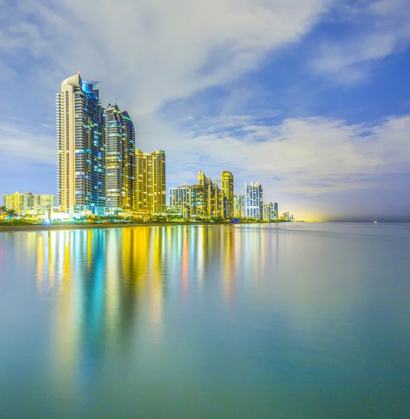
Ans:
{"label": "calm teal sea water with colourful light reflections", "polygon": [[410,226],[0,233],[0,418],[409,418]]}

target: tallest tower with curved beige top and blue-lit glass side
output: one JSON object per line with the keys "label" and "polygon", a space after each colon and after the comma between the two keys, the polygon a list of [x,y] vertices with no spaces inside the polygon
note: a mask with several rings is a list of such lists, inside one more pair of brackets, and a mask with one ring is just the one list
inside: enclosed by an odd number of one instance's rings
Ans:
{"label": "tallest tower with curved beige top and blue-lit glass side", "polygon": [[105,117],[96,84],[72,75],[56,95],[57,204],[68,214],[104,212]]}

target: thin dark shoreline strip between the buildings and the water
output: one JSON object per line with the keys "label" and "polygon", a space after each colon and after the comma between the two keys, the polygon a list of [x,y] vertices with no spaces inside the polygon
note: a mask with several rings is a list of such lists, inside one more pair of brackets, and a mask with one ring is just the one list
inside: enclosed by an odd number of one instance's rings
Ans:
{"label": "thin dark shoreline strip between the buildings and the water", "polygon": [[[96,224],[32,224],[26,226],[2,226],[0,224],[0,233],[13,233],[18,231],[58,231],[58,230],[92,230],[104,228],[129,228],[129,227],[169,227],[169,226],[233,226],[235,224],[269,224],[263,222],[248,223],[246,221],[238,221],[237,223],[228,222],[207,222],[200,223],[96,223]],[[272,223],[279,224],[279,223]]]}

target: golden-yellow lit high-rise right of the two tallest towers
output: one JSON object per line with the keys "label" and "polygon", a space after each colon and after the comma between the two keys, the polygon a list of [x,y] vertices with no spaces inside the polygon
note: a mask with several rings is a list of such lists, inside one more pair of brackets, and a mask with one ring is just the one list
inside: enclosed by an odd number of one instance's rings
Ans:
{"label": "golden-yellow lit high-rise right of the two tallest towers", "polygon": [[166,211],[166,159],[163,150],[151,154],[136,149],[135,199],[138,214],[164,214]]}

